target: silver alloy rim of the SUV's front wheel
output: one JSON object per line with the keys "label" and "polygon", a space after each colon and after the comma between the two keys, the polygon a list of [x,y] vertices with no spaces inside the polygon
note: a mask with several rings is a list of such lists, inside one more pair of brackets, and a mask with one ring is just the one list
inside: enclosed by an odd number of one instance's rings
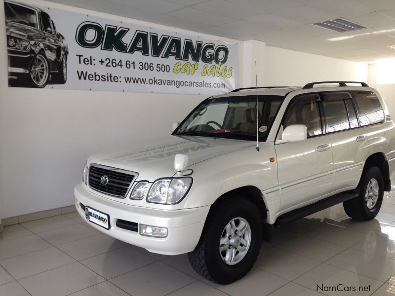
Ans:
{"label": "silver alloy rim of the SUV's front wheel", "polygon": [[228,265],[237,264],[247,254],[250,244],[250,224],[241,217],[232,219],[221,234],[219,243],[221,259]]}

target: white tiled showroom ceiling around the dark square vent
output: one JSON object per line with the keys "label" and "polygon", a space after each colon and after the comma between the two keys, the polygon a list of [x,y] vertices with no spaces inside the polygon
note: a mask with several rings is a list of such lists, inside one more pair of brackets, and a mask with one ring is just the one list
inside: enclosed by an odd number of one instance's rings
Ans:
{"label": "white tiled showroom ceiling around the dark square vent", "polygon": [[[52,0],[239,40],[374,62],[395,57],[395,0]],[[366,29],[337,33],[311,25],[343,18]],[[177,29],[175,29],[177,30]]]}

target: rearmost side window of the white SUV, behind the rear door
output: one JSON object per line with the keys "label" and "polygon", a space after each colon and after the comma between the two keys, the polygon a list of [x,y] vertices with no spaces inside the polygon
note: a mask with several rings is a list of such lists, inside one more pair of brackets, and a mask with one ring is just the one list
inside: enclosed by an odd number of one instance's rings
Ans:
{"label": "rearmost side window of the white SUV, behind the rear door", "polygon": [[354,99],[360,126],[384,122],[384,111],[374,92],[356,92]]}

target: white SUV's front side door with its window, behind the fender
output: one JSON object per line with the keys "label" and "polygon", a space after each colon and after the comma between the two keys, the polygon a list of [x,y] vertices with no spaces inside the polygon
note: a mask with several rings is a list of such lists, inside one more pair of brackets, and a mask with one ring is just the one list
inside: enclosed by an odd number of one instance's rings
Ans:
{"label": "white SUV's front side door with its window, behind the fender", "polygon": [[306,125],[308,138],[275,145],[281,210],[311,203],[332,190],[332,147],[324,134],[319,101],[316,93],[293,98],[282,120],[277,139],[291,124]]}

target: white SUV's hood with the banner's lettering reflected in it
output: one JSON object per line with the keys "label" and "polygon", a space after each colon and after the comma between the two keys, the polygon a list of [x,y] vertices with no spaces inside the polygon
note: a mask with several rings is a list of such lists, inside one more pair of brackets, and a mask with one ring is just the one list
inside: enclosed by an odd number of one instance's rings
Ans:
{"label": "white SUV's hood with the banner's lettering reflected in it", "polygon": [[139,173],[137,180],[155,181],[172,177],[174,156],[188,155],[188,169],[193,165],[238,149],[254,146],[251,141],[221,138],[167,136],[148,142],[135,144],[118,152],[102,152],[89,158],[89,163],[117,167]]}

